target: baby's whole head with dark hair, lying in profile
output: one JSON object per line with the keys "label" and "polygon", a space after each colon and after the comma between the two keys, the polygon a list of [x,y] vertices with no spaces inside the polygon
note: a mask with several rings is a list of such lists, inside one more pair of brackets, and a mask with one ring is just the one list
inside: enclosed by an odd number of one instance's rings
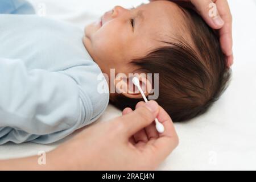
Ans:
{"label": "baby's whole head with dark hair, lying in profile", "polygon": [[[127,77],[159,73],[156,101],[174,121],[203,114],[230,78],[215,32],[193,10],[169,1],[135,9],[116,6],[102,16],[102,23],[87,26],[85,35],[86,49],[109,78],[110,69]],[[110,101],[134,109],[142,96],[124,90],[110,94]]]}

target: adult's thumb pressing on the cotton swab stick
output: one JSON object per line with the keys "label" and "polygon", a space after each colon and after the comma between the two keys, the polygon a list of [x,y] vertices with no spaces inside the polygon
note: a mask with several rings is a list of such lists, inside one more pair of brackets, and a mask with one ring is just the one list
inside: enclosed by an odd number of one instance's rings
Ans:
{"label": "adult's thumb pressing on the cotton swab stick", "polygon": [[133,112],[117,118],[117,125],[122,126],[121,132],[125,137],[131,137],[139,130],[150,125],[159,113],[159,105],[155,101],[149,101]]}

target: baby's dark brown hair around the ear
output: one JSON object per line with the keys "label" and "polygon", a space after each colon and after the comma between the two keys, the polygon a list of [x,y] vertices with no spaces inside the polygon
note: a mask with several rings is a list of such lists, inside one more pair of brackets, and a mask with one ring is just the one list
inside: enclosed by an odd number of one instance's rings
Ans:
{"label": "baby's dark brown hair around the ear", "polygon": [[[216,32],[195,11],[181,10],[186,24],[183,31],[189,32],[192,45],[184,38],[176,38],[175,43],[166,42],[170,46],[131,62],[146,73],[159,73],[156,101],[174,122],[205,113],[224,92],[231,76]],[[110,102],[119,109],[135,109],[139,101],[143,100],[119,94]]]}

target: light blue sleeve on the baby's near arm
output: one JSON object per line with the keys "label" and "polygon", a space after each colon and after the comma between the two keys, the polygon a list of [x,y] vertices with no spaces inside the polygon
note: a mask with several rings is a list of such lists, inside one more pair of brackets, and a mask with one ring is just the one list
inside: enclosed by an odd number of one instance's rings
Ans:
{"label": "light blue sleeve on the baby's near arm", "polygon": [[0,144],[51,143],[90,122],[90,98],[65,72],[27,70],[22,60],[0,59],[0,73]]}

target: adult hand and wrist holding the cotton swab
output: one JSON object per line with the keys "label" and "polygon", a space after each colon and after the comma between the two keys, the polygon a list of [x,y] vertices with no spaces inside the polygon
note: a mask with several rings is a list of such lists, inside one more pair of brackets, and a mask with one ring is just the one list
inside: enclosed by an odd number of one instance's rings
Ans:
{"label": "adult hand and wrist holding the cotton swab", "polygon": [[[163,123],[158,134],[154,119]],[[155,101],[139,102],[135,111],[97,123],[46,154],[0,161],[2,170],[146,170],[155,169],[176,148],[178,137],[170,116]]]}

